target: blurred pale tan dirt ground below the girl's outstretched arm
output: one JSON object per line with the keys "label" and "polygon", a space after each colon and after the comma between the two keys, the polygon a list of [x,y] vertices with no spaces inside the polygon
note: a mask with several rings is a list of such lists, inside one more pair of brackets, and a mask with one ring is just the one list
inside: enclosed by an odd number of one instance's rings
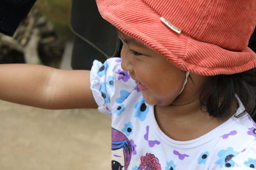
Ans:
{"label": "blurred pale tan dirt ground below the girl's outstretched arm", "polygon": [[111,169],[110,118],[0,101],[0,170]]}

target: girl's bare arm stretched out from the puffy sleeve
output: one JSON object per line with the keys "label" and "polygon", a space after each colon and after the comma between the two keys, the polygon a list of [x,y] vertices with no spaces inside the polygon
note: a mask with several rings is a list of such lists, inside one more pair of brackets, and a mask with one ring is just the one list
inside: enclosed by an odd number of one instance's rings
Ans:
{"label": "girl's bare arm stretched out from the puffy sleeve", "polygon": [[31,64],[0,65],[0,99],[45,109],[97,108],[90,71]]}

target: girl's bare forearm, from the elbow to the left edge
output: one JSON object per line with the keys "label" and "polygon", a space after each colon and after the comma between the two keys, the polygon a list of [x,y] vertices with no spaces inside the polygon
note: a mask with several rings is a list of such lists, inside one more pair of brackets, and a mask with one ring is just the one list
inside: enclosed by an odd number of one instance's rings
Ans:
{"label": "girl's bare forearm, from the elbow to the left edge", "polygon": [[0,99],[46,108],[47,89],[54,69],[30,64],[0,65]]}

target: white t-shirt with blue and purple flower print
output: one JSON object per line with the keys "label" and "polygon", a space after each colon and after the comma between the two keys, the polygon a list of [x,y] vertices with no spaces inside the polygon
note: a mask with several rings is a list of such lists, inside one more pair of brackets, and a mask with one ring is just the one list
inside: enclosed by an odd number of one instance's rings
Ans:
{"label": "white t-shirt with blue and purple flower print", "polygon": [[[91,89],[99,111],[111,117],[112,169],[255,169],[256,124],[246,113],[231,117],[200,138],[176,141],[157,125],[154,106],[145,103],[120,58],[95,60]],[[157,77],[156,77],[157,79]],[[239,108],[235,115],[244,111]]]}

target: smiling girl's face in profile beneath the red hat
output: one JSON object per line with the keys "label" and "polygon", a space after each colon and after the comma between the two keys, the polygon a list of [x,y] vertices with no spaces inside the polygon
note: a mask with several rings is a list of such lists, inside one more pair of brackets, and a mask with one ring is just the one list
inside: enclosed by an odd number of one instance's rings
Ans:
{"label": "smiling girl's face in profile beneath the red hat", "polygon": [[139,41],[118,33],[123,43],[122,69],[138,81],[145,101],[159,106],[172,104],[182,89],[185,72]]}

